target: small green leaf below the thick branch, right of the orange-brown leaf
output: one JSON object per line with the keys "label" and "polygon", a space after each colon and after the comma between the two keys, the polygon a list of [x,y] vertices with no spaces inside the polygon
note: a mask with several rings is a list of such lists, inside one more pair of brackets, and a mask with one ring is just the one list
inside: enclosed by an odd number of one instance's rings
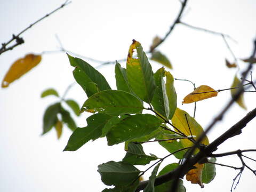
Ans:
{"label": "small green leaf below the thick branch, right of the orange-brown leaf", "polygon": [[[210,158],[209,162],[215,163],[216,158]],[[205,163],[203,172],[202,172],[202,182],[203,183],[210,183],[216,175],[215,165],[211,163]]]}

